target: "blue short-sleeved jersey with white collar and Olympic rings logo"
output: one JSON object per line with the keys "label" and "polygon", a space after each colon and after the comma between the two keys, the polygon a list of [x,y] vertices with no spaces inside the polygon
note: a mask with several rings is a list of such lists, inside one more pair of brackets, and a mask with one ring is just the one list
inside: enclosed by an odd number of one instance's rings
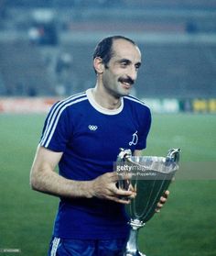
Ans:
{"label": "blue short-sleeved jersey with white collar and Olympic rings logo", "polygon": [[[118,109],[99,106],[92,89],[52,106],[40,145],[63,152],[59,174],[90,181],[113,172],[120,148],[143,150],[151,124],[148,107],[124,96]],[[124,205],[99,198],[60,198],[54,236],[64,239],[118,239],[128,235]]]}

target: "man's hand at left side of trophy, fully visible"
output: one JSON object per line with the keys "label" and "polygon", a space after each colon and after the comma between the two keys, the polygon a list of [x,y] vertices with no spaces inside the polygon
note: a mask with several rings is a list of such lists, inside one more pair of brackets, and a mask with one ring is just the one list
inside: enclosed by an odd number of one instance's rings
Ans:
{"label": "man's hand at left side of trophy, fully visible", "polygon": [[128,191],[118,189],[116,186],[117,181],[117,173],[104,173],[97,177],[91,184],[92,196],[112,200],[120,204],[129,204],[130,199],[134,198],[136,195],[135,191],[132,187]]}

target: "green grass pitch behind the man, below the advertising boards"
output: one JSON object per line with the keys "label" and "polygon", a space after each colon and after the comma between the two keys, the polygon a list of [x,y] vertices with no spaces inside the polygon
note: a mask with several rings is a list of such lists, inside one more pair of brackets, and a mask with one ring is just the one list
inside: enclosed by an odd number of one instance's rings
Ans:
{"label": "green grass pitch behind the man, below the advertising boards", "polygon": [[[58,199],[31,191],[43,115],[0,115],[0,254],[45,256]],[[181,148],[181,161],[216,160],[216,116],[154,115],[146,154]],[[206,170],[203,170],[205,172]],[[216,170],[215,170],[216,172]],[[140,230],[147,256],[216,255],[216,181],[176,180],[165,208]],[[1,253],[20,249],[20,253]]]}

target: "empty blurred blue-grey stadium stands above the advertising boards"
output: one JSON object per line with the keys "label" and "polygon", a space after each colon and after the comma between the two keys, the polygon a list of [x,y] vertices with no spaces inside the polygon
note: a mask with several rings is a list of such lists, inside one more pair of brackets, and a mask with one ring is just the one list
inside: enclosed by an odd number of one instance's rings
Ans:
{"label": "empty blurred blue-grey stadium stands above the advertising boards", "polygon": [[135,95],[216,111],[215,0],[1,0],[0,8],[3,96],[65,96],[93,86],[96,42],[122,34],[143,52]]}

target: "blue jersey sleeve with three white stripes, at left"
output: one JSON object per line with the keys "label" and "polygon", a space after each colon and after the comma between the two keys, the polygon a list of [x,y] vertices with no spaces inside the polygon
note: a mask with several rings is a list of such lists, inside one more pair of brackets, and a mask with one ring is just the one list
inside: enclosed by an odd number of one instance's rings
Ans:
{"label": "blue jersey sleeve with three white stripes, at left", "polygon": [[45,120],[39,144],[49,150],[63,152],[72,133],[67,108],[58,107],[58,103],[49,111]]}

